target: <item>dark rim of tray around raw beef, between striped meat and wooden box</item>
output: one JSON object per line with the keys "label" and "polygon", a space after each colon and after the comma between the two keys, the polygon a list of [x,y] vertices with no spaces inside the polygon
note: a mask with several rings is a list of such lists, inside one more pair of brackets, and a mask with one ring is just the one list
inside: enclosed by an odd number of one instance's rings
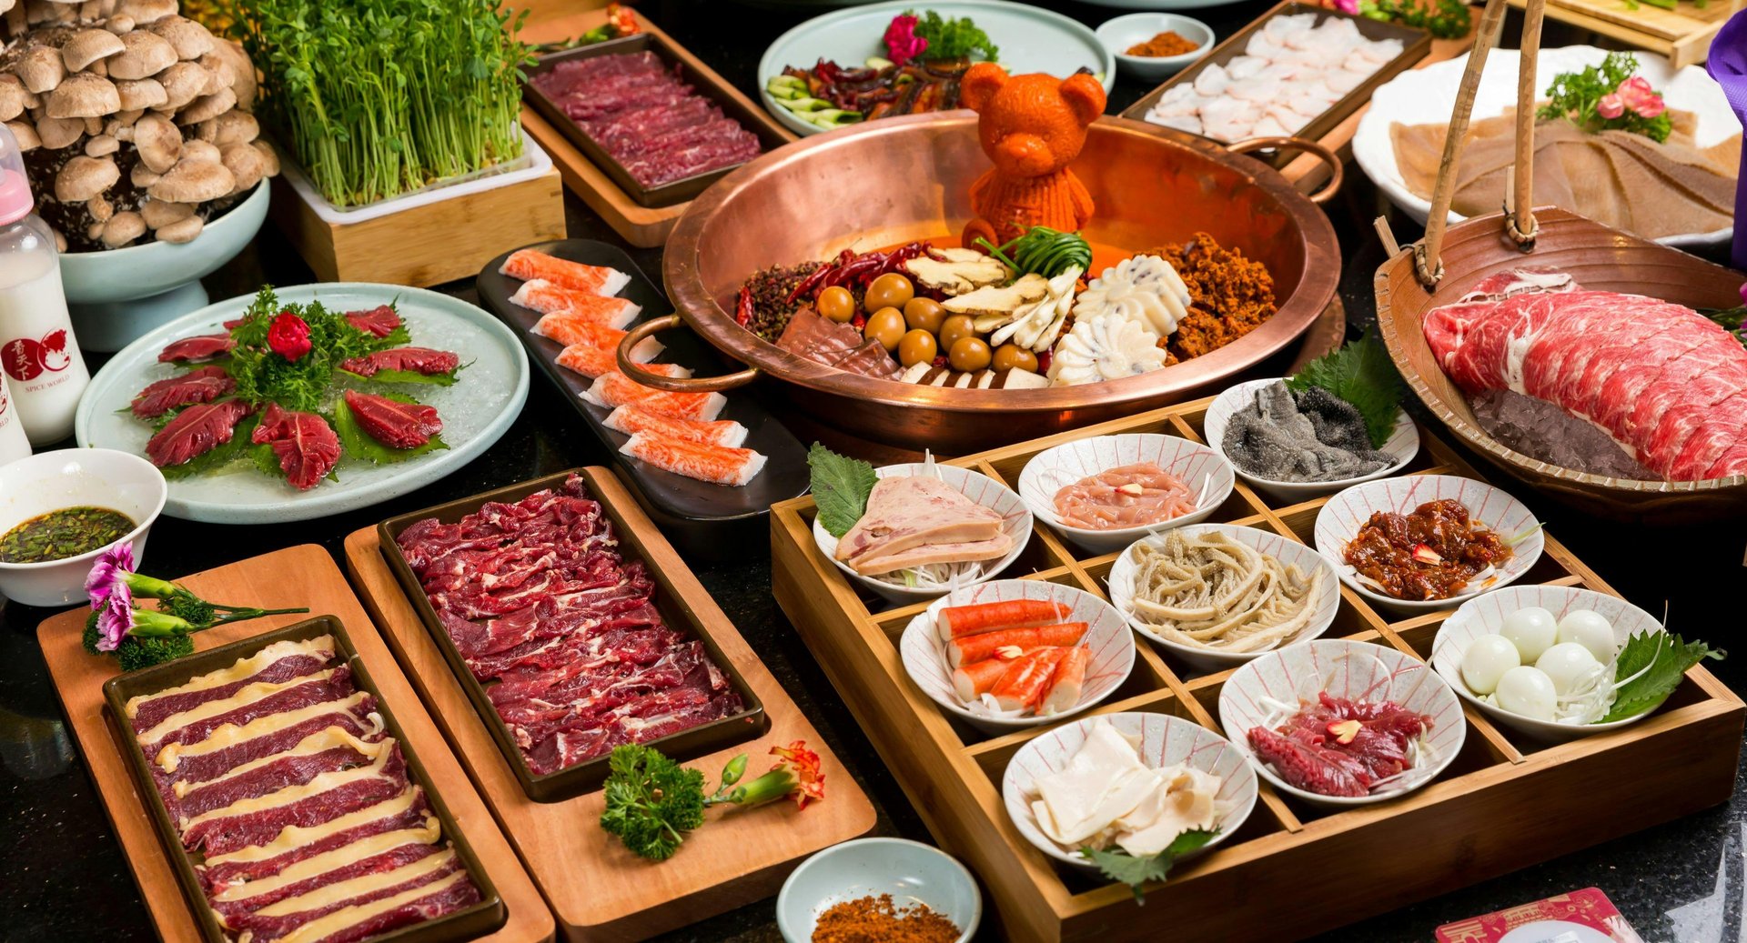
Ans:
{"label": "dark rim of tray around raw beef, between striped meat and wooden box", "polygon": [[[599,501],[601,508],[606,512],[608,520],[613,522],[613,531],[618,536],[620,550],[627,557],[648,559],[648,554],[643,548],[643,536],[632,527],[625,526],[625,520],[620,515],[618,508],[601,499],[601,489],[596,485],[594,477],[587,468],[575,468],[571,472],[559,472],[556,475],[547,475],[543,478],[535,478],[529,482],[500,487],[496,491],[487,491],[484,494],[473,494],[472,498],[449,501],[435,508],[402,513],[400,517],[391,517],[377,524],[377,536],[381,538],[383,557],[388,559],[388,568],[395,571],[395,580],[400,582],[400,589],[407,594],[407,601],[412,602],[412,608],[418,609],[419,622],[425,623],[425,630],[432,634],[432,639],[437,643],[437,648],[442,650],[444,660],[449,662],[449,671],[454,672],[456,679],[461,683],[461,688],[466,690],[468,700],[473,702],[473,709],[479,711],[480,719],[486,721],[486,728],[491,730],[491,737],[498,742],[498,749],[508,761],[510,770],[515,774],[515,779],[522,786],[522,791],[528,795],[528,798],[535,802],[561,802],[597,788],[606,779],[608,756],[597,756],[594,760],[577,763],[575,767],[568,767],[543,775],[536,775],[533,770],[528,768],[528,760],[522,756],[521,747],[515,744],[515,735],[510,732],[508,725],[503,723],[503,718],[498,716],[496,707],[486,695],[486,685],[480,685],[479,679],[473,678],[473,672],[468,671],[466,660],[461,657],[461,651],[454,646],[454,639],[449,637],[449,632],[442,627],[442,622],[437,618],[437,611],[432,608],[430,597],[425,595],[425,587],[419,585],[418,576],[414,576],[412,568],[407,564],[405,555],[400,552],[400,543],[397,541],[397,538],[400,536],[402,531],[405,531],[418,520],[435,517],[444,524],[454,524],[456,520],[461,520],[468,513],[477,512],[480,505],[486,505],[487,501],[514,503],[521,501],[522,498],[536,491],[545,491],[549,487],[563,485],[564,478],[568,478],[571,473],[577,473],[583,478],[583,482],[589,485],[590,498]],[[680,595],[674,592],[667,575],[653,568],[650,568],[648,573],[650,578],[655,582],[655,608],[660,609],[662,620],[667,622],[667,625],[671,627],[688,629],[694,637],[704,643],[704,651],[716,664],[716,667],[728,676],[728,683],[734,685],[735,692],[739,692],[741,700],[746,704],[746,709],[741,711],[739,714],[730,714],[727,718],[692,726],[678,733],[657,737],[653,740],[648,740],[645,746],[660,749],[667,756],[683,761],[683,760],[692,760],[695,756],[702,756],[706,753],[715,753],[718,749],[727,749],[730,746],[742,744],[746,740],[763,735],[770,728],[770,718],[765,716],[763,702],[751,690],[746,679],[741,678],[741,672],[739,669],[734,667],[734,662],[730,662],[722,653],[722,650],[716,646],[716,641],[709,637],[709,632],[706,630],[702,620],[697,618],[697,613],[694,613],[690,606],[680,602]]]}

